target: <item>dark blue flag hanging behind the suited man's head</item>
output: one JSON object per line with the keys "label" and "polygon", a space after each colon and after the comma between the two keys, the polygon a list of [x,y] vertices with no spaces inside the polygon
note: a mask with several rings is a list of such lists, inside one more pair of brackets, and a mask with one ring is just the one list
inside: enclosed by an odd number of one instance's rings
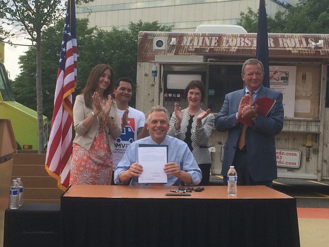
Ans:
{"label": "dark blue flag hanging behind the suited man's head", "polygon": [[265,0],[259,0],[256,58],[260,60],[264,66],[265,75],[263,85],[270,87],[269,41]]}

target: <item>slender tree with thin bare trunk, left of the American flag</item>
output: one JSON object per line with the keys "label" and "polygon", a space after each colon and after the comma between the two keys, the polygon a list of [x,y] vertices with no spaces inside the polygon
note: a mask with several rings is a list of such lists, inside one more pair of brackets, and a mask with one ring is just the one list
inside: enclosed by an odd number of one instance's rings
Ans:
{"label": "slender tree with thin bare trunk, left of the American flag", "polygon": [[[82,0],[77,0],[77,2]],[[89,0],[83,0],[88,2]],[[63,15],[61,0],[0,0],[1,27],[8,25],[12,30],[2,33],[3,38],[28,34],[36,50],[36,98],[38,115],[38,153],[43,152],[43,94],[41,66],[41,36],[44,27],[53,24]],[[10,41],[9,41],[10,42]]]}

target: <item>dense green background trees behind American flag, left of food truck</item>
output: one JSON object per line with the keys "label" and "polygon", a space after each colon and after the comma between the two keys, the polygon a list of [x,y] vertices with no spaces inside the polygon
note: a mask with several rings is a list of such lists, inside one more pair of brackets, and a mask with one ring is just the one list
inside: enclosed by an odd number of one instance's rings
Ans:
{"label": "dense green background trees behind American flag, left of food truck", "polygon": [[[45,28],[41,39],[43,113],[49,119],[52,119],[53,114],[55,82],[63,25],[64,19],[61,19],[54,26]],[[131,23],[129,26],[132,26],[131,28],[113,28],[111,31],[104,31],[97,27],[88,28],[87,26],[88,19],[77,19],[78,78],[76,94],[80,93],[86,83],[89,72],[98,63],[110,64],[113,67],[116,79],[123,76],[131,77],[133,80],[136,79],[138,31],[171,29],[171,27],[161,26],[157,22],[142,23],[140,21],[137,24]],[[19,60],[22,72],[12,82],[13,91],[18,102],[35,109],[35,47],[30,47],[25,55],[19,57]],[[135,94],[131,106],[135,106],[134,99]]]}

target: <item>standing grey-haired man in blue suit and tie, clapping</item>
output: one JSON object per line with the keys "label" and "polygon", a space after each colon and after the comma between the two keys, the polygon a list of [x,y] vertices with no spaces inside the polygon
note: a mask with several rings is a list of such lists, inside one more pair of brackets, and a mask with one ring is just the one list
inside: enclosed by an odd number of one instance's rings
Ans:
{"label": "standing grey-haired man in blue suit and tie, clapping", "polygon": [[[227,185],[227,171],[230,165],[234,165],[238,173],[238,185],[266,185],[271,188],[273,180],[277,178],[275,135],[283,128],[283,95],[262,85],[264,67],[257,59],[251,58],[244,63],[241,76],[246,87],[225,96],[215,119],[218,131],[228,131],[221,169],[223,182]],[[275,100],[267,116],[257,113],[257,105],[250,106],[251,101],[259,97]],[[237,121],[240,117],[249,118],[252,125],[243,127]],[[242,132],[245,134],[242,135]],[[244,135],[245,138],[240,138]]]}

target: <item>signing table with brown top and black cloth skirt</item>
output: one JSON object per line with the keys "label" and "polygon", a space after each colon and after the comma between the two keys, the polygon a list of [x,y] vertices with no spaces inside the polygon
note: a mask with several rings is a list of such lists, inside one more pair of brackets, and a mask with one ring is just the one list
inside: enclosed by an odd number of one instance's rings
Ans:
{"label": "signing table with brown top and black cloth skirt", "polygon": [[67,246],[299,247],[296,199],[265,186],[72,186],[61,197]]}

